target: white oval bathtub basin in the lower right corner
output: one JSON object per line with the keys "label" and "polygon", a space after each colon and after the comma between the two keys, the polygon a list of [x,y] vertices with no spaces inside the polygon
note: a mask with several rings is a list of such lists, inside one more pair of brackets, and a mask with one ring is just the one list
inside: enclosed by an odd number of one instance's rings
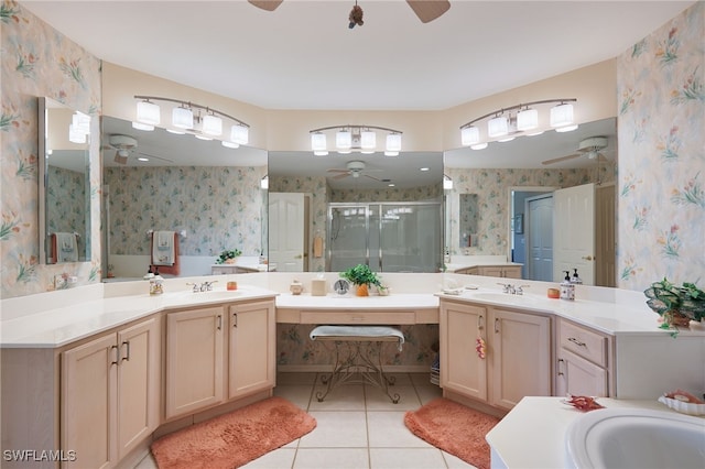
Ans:
{"label": "white oval bathtub basin in the lower right corner", "polygon": [[565,443],[578,469],[705,467],[705,419],[673,412],[592,411],[568,426]]}

